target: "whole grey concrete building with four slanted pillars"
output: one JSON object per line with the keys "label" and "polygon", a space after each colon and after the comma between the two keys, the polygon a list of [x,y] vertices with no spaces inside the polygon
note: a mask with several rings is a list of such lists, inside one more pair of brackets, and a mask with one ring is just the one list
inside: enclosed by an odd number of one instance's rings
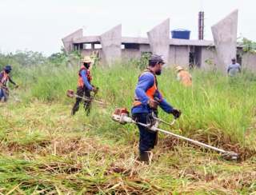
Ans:
{"label": "whole grey concrete building with four slanted pillars", "polygon": [[252,69],[254,55],[236,56],[237,50],[242,50],[242,46],[236,46],[237,26],[238,11],[235,10],[212,27],[214,42],[170,38],[169,18],[150,30],[147,38],[122,37],[122,25],[118,25],[99,36],[82,36],[82,30],[77,30],[63,38],[62,42],[66,52],[80,50],[82,55],[98,52],[104,64],[151,53],[161,54],[169,66],[195,65],[225,72],[231,58],[237,57],[238,62],[246,62],[246,66]]}

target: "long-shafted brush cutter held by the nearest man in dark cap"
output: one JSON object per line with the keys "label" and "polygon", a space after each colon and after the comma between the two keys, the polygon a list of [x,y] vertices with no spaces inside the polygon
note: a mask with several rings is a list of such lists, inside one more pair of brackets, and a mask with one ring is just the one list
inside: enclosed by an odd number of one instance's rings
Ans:
{"label": "long-shafted brush cutter held by the nearest man in dark cap", "polygon": [[[162,133],[166,133],[168,135],[178,137],[178,139],[189,141],[189,142],[193,143],[194,145],[199,145],[199,146],[201,146],[203,148],[207,148],[207,149],[213,149],[213,150],[217,151],[218,153],[221,153],[222,157],[224,157],[226,160],[234,160],[234,161],[238,160],[238,153],[234,153],[234,152],[231,152],[231,151],[226,151],[224,149],[218,149],[218,148],[216,148],[212,145],[207,145],[207,144],[204,144],[202,142],[192,140],[188,137],[183,137],[181,135],[171,133],[170,131],[166,131],[164,129],[159,129],[158,128],[158,122],[155,123],[154,125],[152,125],[152,124],[144,124],[144,123],[141,123],[141,122],[138,122],[138,121],[134,121],[134,119],[129,117],[129,112],[127,111],[127,109],[116,109],[114,111],[114,113],[112,114],[112,119],[114,121],[117,121],[118,123],[120,123],[122,125],[125,125],[126,123],[133,123],[133,124],[136,124],[136,125],[142,125],[142,126],[148,128],[148,129],[152,130],[152,131],[159,131],[159,132],[162,132]],[[174,125],[175,120],[176,119],[174,119],[174,121],[170,124]],[[158,121],[162,121],[162,120],[158,119]]]}

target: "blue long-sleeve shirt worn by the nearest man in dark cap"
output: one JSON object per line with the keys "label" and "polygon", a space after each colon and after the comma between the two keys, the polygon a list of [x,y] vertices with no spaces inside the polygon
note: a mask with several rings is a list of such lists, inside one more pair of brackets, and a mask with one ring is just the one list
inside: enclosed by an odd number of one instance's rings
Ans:
{"label": "blue long-sleeve shirt worn by the nearest man in dark cap", "polygon": [[[138,101],[141,101],[141,105],[134,106],[131,109],[131,113],[150,113],[152,109],[147,105],[147,101],[150,99],[146,95],[146,91],[149,90],[152,86],[154,86],[154,74],[145,73],[142,74],[140,78],[138,78],[138,84],[135,89],[135,96],[138,98]],[[162,94],[157,91],[156,97],[160,99],[159,106],[166,112],[171,113],[173,107],[166,101],[166,99],[162,98]]]}

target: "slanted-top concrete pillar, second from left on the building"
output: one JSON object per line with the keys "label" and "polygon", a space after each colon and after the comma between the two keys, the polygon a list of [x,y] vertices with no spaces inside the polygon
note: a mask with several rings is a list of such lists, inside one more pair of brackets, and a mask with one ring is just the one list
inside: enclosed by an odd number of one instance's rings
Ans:
{"label": "slanted-top concrete pillar, second from left on the building", "polygon": [[115,60],[121,59],[122,25],[115,26],[100,36],[102,44],[103,61],[111,65]]}

